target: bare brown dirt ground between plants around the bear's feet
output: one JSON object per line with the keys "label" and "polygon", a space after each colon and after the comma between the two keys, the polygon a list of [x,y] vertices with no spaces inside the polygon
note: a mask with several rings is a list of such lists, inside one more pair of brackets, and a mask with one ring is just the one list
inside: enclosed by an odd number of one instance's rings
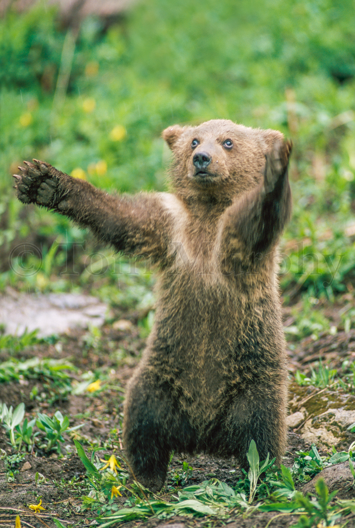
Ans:
{"label": "bare brown dirt ground between plants around the bear's feet", "polygon": [[[99,445],[105,446],[105,450],[100,453],[102,457],[105,454],[111,455],[114,451],[120,453],[122,447],[120,431],[123,401],[121,389],[124,390],[125,384],[132,375],[132,371],[138,363],[144,347],[144,340],[140,336],[139,328],[136,325],[137,314],[127,314],[117,309],[113,315],[116,320],[124,318],[125,320],[130,320],[132,324],[126,325],[127,328],[125,330],[114,329],[115,325],[113,324],[104,325],[102,327],[103,338],[101,340],[103,344],[98,350],[94,348],[87,349],[83,346],[85,331],[81,329],[70,331],[69,334],[61,336],[59,340],[60,346],[58,344],[44,343],[26,348],[26,350],[17,354],[17,357],[22,359],[34,356],[51,357],[53,359],[63,359],[65,357],[78,368],[78,372],[75,374],[78,379],[80,373],[105,369],[109,373],[109,382],[102,392],[95,393],[96,395],[88,393],[69,395],[67,399],[49,405],[45,397],[48,387],[44,380],[21,380],[20,383],[0,384],[0,401],[13,407],[20,402],[24,402],[26,416],[29,419],[35,417],[37,411],[51,415],[59,409],[63,415],[70,417],[70,426],[85,423],[84,427],[79,430],[80,441],[83,443],[84,448],[85,438],[90,442],[96,440]],[[286,320],[287,317],[288,313],[286,310]],[[336,315],[334,317],[336,318]],[[124,325],[122,326],[124,327]],[[111,345],[108,346],[108,343],[111,343]],[[114,343],[114,347],[112,347],[112,343]],[[113,353],[113,350],[119,350],[120,348],[123,348],[126,352],[128,351],[124,360],[120,359],[116,353]],[[306,338],[290,353],[290,370],[301,369],[302,371],[307,371],[308,364],[312,363],[312,361],[318,361],[320,357],[324,362],[330,361],[332,366],[340,368],[345,356],[351,358],[354,355],[355,332],[353,331],[347,334],[339,331],[338,334],[333,336],[320,336],[316,341]],[[0,352],[0,361],[6,361],[7,359],[7,355]],[[31,391],[33,393],[34,385],[37,385],[37,393],[42,394],[42,398],[37,400],[33,399],[33,397],[31,398]],[[292,385],[290,393],[291,411],[297,411],[297,401],[303,401],[308,398],[308,395],[312,397],[314,392],[316,391],[312,386],[295,388]],[[289,430],[288,448],[284,461],[286,466],[292,466],[296,451],[310,448],[310,444],[305,441],[299,432],[302,432],[302,424],[301,428],[297,426]],[[13,482],[7,482],[4,461],[0,461],[0,526],[14,528],[16,514],[20,514],[22,526],[29,526],[30,528],[42,528],[43,526],[54,528],[53,517],[60,519],[61,523],[69,528],[97,525],[95,512],[83,511],[80,508],[83,503],[80,498],[83,494],[80,490],[80,480],[84,478],[85,468],[76,454],[72,438],[67,436],[66,440],[67,442],[63,444],[62,448],[62,457],[58,457],[57,454],[48,456],[44,451],[26,454],[25,458],[17,466],[14,465],[13,467],[17,470]],[[350,441],[351,438],[348,440]],[[322,452],[322,445],[317,447]],[[326,446],[323,447],[324,451],[326,451]],[[13,452],[3,428],[0,428],[0,448],[8,454]],[[235,469],[233,460],[214,460],[208,456],[201,455],[188,457],[187,461],[194,470],[192,477],[184,483],[185,486],[197,484],[213,477],[233,486],[240,478],[238,468],[233,472]],[[325,475],[328,478],[326,482],[330,487],[330,491],[332,489],[339,490],[338,497],[354,498],[355,491],[351,475],[349,476],[349,467],[345,466],[346,464],[344,464],[344,468],[334,466],[338,468],[338,473],[333,472],[328,477]],[[167,479],[168,484],[172,485],[174,474],[179,468],[181,468],[181,457],[175,456],[171,463]],[[45,482],[36,482],[37,473],[45,477]],[[67,485],[73,478],[76,479],[77,491],[75,486],[69,487]],[[306,486],[308,487],[305,487],[305,491],[311,492],[312,482],[307,483]],[[38,504],[40,498],[45,510],[35,515],[28,506],[29,504]],[[120,502],[121,504],[124,503],[124,497],[120,499]],[[227,524],[229,524],[230,528],[236,528],[237,526],[240,528],[261,528],[266,525],[270,528],[276,528],[290,526],[296,523],[297,519],[297,515],[276,515],[275,512],[259,512],[243,519],[241,517],[237,518],[232,512]],[[355,526],[355,516],[343,518],[342,523],[344,522],[347,522],[348,528]],[[217,528],[225,525],[225,523],[225,520],[211,520],[208,517],[189,518],[175,516],[169,518],[169,520],[150,518],[146,521],[130,522],[128,526],[144,525],[147,528],[153,528],[157,525],[169,525],[169,528],[215,526]]]}

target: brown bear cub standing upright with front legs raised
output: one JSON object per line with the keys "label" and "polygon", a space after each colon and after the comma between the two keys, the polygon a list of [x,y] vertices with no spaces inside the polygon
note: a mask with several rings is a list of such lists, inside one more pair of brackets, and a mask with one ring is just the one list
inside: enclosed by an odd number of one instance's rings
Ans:
{"label": "brown bear cub standing upright with front legs raised", "polygon": [[172,450],[280,463],[287,367],[278,240],[290,216],[289,142],[276,130],[211,120],[163,131],[171,193],[112,196],[33,160],[17,196],[89,227],[158,268],[152,332],[124,405],[133,476],[159,490]]}

